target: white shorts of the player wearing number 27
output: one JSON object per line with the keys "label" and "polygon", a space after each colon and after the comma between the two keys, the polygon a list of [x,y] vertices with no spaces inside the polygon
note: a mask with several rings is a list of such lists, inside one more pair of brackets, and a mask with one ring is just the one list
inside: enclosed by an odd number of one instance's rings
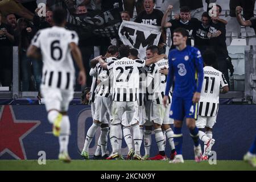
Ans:
{"label": "white shorts of the player wearing number 27", "polygon": [[[117,102],[113,101],[112,105],[112,120],[111,123],[113,125],[117,125],[118,123],[122,123],[123,113],[126,112],[126,120],[130,125],[134,125],[138,122],[138,103],[135,102]],[[125,125],[127,125],[125,123]]]}

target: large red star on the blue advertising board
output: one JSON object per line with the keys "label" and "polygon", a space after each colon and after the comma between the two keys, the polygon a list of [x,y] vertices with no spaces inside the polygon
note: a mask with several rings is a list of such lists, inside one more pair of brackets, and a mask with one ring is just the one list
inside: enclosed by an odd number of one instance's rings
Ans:
{"label": "large red star on the blue advertising board", "polygon": [[12,106],[0,112],[0,156],[6,152],[15,159],[27,159],[22,139],[40,125],[40,121],[17,120]]}

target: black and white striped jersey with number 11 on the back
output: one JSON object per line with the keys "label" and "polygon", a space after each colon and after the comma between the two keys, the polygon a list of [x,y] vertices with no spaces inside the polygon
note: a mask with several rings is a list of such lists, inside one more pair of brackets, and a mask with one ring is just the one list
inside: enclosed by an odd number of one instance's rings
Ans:
{"label": "black and white striped jersey with number 11 on the back", "polygon": [[218,113],[220,88],[228,86],[224,75],[213,67],[204,67],[204,82],[199,101],[199,115],[213,117]]}

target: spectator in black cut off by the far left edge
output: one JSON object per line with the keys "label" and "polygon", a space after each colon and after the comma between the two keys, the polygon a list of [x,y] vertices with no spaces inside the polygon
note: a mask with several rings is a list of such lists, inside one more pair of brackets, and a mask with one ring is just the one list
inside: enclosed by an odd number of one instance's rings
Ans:
{"label": "spectator in black cut off by the far left edge", "polygon": [[2,13],[0,11],[0,84],[9,86],[13,80],[13,29],[2,23]]}

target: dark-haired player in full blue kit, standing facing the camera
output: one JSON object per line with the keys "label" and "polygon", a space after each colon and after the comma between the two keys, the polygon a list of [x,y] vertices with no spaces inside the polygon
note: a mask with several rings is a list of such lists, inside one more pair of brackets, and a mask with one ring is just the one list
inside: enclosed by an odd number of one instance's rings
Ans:
{"label": "dark-haired player in full blue kit, standing facing the camera", "polygon": [[184,163],[182,156],[183,135],[181,133],[184,117],[186,117],[186,124],[194,141],[195,160],[200,162],[202,152],[195,119],[197,119],[197,103],[200,99],[204,79],[203,60],[199,49],[187,46],[187,30],[177,28],[173,37],[176,49],[172,49],[168,56],[169,73],[163,99],[163,104],[166,106],[168,93],[173,81],[175,81],[170,117],[174,119],[174,143],[177,155],[170,163]]}

